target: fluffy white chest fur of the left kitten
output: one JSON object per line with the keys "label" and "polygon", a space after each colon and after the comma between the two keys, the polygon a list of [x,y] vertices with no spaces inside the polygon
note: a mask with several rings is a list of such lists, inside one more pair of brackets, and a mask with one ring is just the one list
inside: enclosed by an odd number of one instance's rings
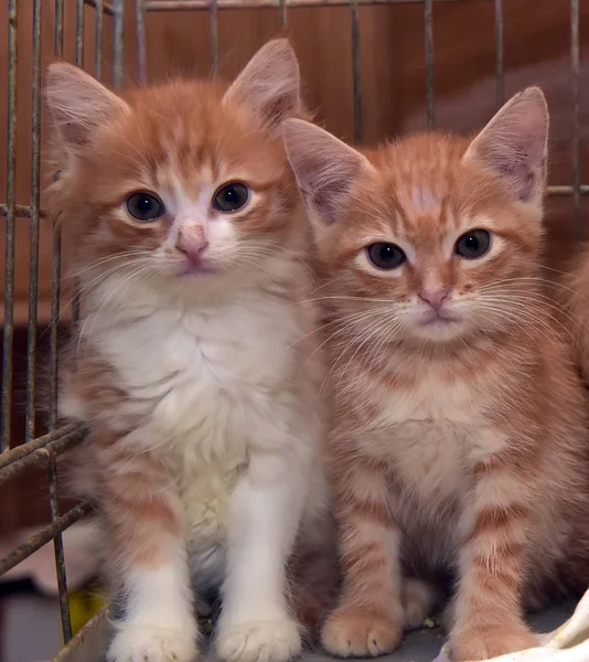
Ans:
{"label": "fluffy white chest fur of the left kitten", "polygon": [[[83,337],[129,394],[121,415],[142,421],[133,445],[164,459],[178,483],[196,567],[219,563],[248,449],[271,448],[283,439],[277,426],[294,427],[293,346],[306,332],[292,305],[263,292],[196,307],[150,291],[85,320]],[[64,413],[84,418],[79,406],[74,398]],[[304,441],[297,438],[302,452]]]}

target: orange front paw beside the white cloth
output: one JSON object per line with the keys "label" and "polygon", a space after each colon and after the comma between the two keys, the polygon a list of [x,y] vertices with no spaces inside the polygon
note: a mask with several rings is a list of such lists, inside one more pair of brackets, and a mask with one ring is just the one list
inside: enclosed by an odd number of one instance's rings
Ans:
{"label": "orange front paw beside the white cloth", "polygon": [[496,626],[465,630],[450,636],[454,662],[489,660],[537,645],[538,640],[524,626]]}

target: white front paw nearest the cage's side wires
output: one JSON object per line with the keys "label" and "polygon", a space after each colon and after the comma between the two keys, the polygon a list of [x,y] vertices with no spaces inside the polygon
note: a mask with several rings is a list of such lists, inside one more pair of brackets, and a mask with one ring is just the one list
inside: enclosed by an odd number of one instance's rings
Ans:
{"label": "white front paw nearest the cage's side wires", "polygon": [[108,662],[195,662],[193,632],[122,623],[108,648]]}

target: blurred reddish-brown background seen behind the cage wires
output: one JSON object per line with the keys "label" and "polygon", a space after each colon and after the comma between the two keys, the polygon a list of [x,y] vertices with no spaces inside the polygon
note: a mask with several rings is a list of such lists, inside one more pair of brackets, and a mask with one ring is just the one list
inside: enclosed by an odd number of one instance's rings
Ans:
{"label": "blurred reddish-brown background seen behind the cage wires", "polygon": [[[42,53],[54,53],[54,1],[41,0]],[[0,1],[0,202],[6,201],[8,3]],[[136,81],[135,2],[128,0],[125,31],[125,85]],[[211,42],[207,11],[147,15],[148,79],[171,75],[208,76]],[[572,183],[572,92],[570,0],[503,0],[505,97],[529,84],[546,92],[551,111],[550,183]],[[376,142],[426,126],[424,6],[405,1],[360,8],[362,138]],[[307,97],[319,120],[343,139],[353,137],[352,18],[350,7],[293,8],[288,26],[301,62]],[[233,77],[250,55],[279,31],[279,10],[218,11],[219,70]],[[433,62],[436,127],[469,132],[497,108],[493,0],[435,0]],[[65,0],[65,58],[75,57],[76,1]],[[95,10],[85,8],[84,66],[94,73]],[[20,0],[18,18],[17,202],[30,204],[32,0]],[[113,18],[104,18],[103,78],[111,79]],[[580,1],[581,181],[589,183],[589,1]],[[43,124],[45,127],[45,124]],[[582,200],[586,225],[588,202]],[[548,201],[548,258],[559,267],[575,247],[572,197]],[[3,224],[4,218],[0,220]],[[0,278],[3,278],[3,227],[0,228]],[[589,232],[585,232],[589,236]],[[51,223],[41,222],[40,343],[46,342],[51,287]],[[66,268],[66,265],[64,265]],[[17,220],[15,374],[13,445],[23,436],[29,220]],[[64,288],[67,311],[68,288]],[[67,319],[67,312],[64,320]],[[41,351],[40,363],[44,354]],[[43,430],[40,430],[43,431]],[[43,481],[30,480],[0,490],[0,532],[45,519]],[[7,508],[8,505],[8,508]]]}

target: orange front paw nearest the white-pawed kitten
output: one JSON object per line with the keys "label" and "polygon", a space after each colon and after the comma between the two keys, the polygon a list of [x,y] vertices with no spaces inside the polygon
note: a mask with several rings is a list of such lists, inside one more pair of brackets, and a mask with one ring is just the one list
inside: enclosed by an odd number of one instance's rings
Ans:
{"label": "orange front paw nearest the white-pawed kitten", "polygon": [[376,658],[396,649],[403,636],[401,623],[365,611],[335,611],[321,632],[323,648],[339,658]]}

